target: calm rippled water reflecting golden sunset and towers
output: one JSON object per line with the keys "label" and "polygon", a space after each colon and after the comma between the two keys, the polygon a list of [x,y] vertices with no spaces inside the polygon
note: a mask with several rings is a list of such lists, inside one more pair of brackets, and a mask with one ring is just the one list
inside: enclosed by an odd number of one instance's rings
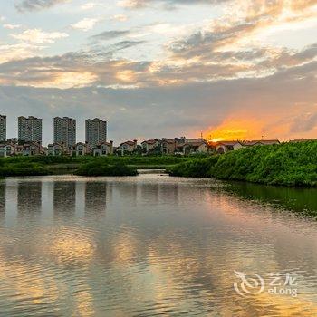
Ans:
{"label": "calm rippled water reflecting golden sunset and towers", "polygon": [[[150,174],[0,180],[0,316],[316,316],[317,221],[299,213],[316,199]],[[265,289],[236,293],[235,271]],[[270,274],[297,297],[268,293]]]}

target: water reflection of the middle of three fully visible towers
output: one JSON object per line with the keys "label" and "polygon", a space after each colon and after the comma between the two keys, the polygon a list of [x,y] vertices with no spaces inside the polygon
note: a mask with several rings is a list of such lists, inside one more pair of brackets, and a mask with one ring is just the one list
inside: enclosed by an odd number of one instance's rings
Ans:
{"label": "water reflection of the middle of three fully visible towers", "polygon": [[76,183],[54,182],[53,213],[54,216],[73,216],[76,209]]}

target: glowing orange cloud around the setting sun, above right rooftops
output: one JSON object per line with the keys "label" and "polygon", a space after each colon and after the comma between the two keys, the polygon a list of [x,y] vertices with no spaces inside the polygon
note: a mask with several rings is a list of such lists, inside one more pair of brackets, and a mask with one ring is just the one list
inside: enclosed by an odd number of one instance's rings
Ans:
{"label": "glowing orange cloud around the setting sun, above right rooftops", "polygon": [[204,132],[210,141],[252,139],[315,139],[317,104],[295,103],[285,110],[238,113]]}

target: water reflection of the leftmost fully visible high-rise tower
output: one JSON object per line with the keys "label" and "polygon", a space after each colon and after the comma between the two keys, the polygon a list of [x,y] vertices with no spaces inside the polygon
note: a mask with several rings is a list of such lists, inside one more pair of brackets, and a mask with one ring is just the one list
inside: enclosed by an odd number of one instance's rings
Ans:
{"label": "water reflection of the leftmost fully visible high-rise tower", "polygon": [[40,212],[42,209],[42,182],[19,182],[17,211],[19,215]]}

